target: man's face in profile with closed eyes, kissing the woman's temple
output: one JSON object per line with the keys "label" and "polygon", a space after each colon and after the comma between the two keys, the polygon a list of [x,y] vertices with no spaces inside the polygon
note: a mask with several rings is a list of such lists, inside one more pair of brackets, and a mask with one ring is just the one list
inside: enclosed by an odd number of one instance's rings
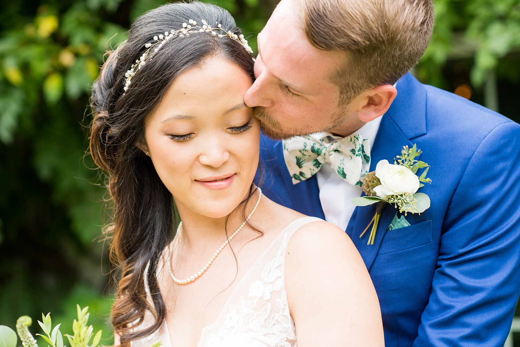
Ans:
{"label": "man's face in profile with closed eyes, kissing the woman's temple", "polygon": [[256,81],[244,96],[274,138],[334,132],[357,118],[338,104],[339,87],[332,82],[346,55],[312,46],[295,6],[294,0],[282,0],[258,35]]}

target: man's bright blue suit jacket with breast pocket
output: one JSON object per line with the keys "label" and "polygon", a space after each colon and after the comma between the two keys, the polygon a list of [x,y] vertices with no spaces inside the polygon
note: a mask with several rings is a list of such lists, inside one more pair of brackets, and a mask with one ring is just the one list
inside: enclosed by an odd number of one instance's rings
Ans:
{"label": "man's bright blue suit jacket with breast pocket", "polygon": [[[502,347],[520,292],[520,125],[410,74],[396,87],[370,170],[417,143],[431,207],[386,231],[387,206],[373,246],[359,235],[375,205],[357,207],[346,230],[378,293],[385,344]],[[324,219],[316,176],[294,185],[280,141],[262,137],[261,164],[266,196]]]}

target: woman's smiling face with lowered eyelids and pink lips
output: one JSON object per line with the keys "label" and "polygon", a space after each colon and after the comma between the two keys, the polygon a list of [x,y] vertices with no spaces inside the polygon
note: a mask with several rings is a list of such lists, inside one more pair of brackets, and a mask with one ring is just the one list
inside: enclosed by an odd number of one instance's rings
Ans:
{"label": "woman's smiling face with lowered eyelids and pink lips", "polygon": [[145,150],[180,213],[220,218],[248,194],[260,125],[243,101],[251,78],[224,58],[179,75],[145,122]]}

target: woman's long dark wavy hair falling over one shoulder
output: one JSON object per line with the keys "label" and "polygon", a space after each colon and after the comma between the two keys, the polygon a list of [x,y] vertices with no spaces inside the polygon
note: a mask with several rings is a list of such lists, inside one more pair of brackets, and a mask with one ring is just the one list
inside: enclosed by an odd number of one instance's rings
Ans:
{"label": "woman's long dark wavy hair falling over one shoulder", "polygon": [[[222,29],[241,34],[229,12],[215,5],[173,3],[151,10],[132,24],[127,41],[110,52],[90,98],[94,116],[90,153],[96,165],[108,173],[113,224],[105,232],[111,236],[111,262],[121,273],[112,306],[112,325],[124,346],[150,335],[164,321],[165,304],[155,273],[161,253],[172,237],[173,225],[178,222],[172,213],[172,194],[157,175],[151,159],[136,147],[136,143],[144,143],[145,118],[179,74],[200,66],[208,58],[223,57],[254,79],[252,57],[238,42],[209,33],[192,33],[171,39],[156,55],[150,55],[123,94],[124,75],[144,53],[145,44],[153,42],[155,35],[182,28],[189,19],[220,23]],[[197,85],[203,87],[204,81],[193,81],[193,87]],[[252,194],[250,189],[249,197]],[[147,300],[144,284],[148,263],[146,275],[152,303]],[[146,311],[153,315],[154,323],[135,329]]]}

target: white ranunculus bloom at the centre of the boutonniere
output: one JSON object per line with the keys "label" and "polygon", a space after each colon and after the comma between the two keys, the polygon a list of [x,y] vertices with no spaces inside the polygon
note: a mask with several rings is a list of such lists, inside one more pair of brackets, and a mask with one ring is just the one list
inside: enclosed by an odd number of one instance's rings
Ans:
{"label": "white ranunculus bloom at the centre of the boutonniere", "polygon": [[403,165],[389,164],[387,160],[378,163],[375,176],[381,185],[376,186],[374,192],[383,199],[388,195],[413,194],[419,189],[419,178],[412,170]]}

